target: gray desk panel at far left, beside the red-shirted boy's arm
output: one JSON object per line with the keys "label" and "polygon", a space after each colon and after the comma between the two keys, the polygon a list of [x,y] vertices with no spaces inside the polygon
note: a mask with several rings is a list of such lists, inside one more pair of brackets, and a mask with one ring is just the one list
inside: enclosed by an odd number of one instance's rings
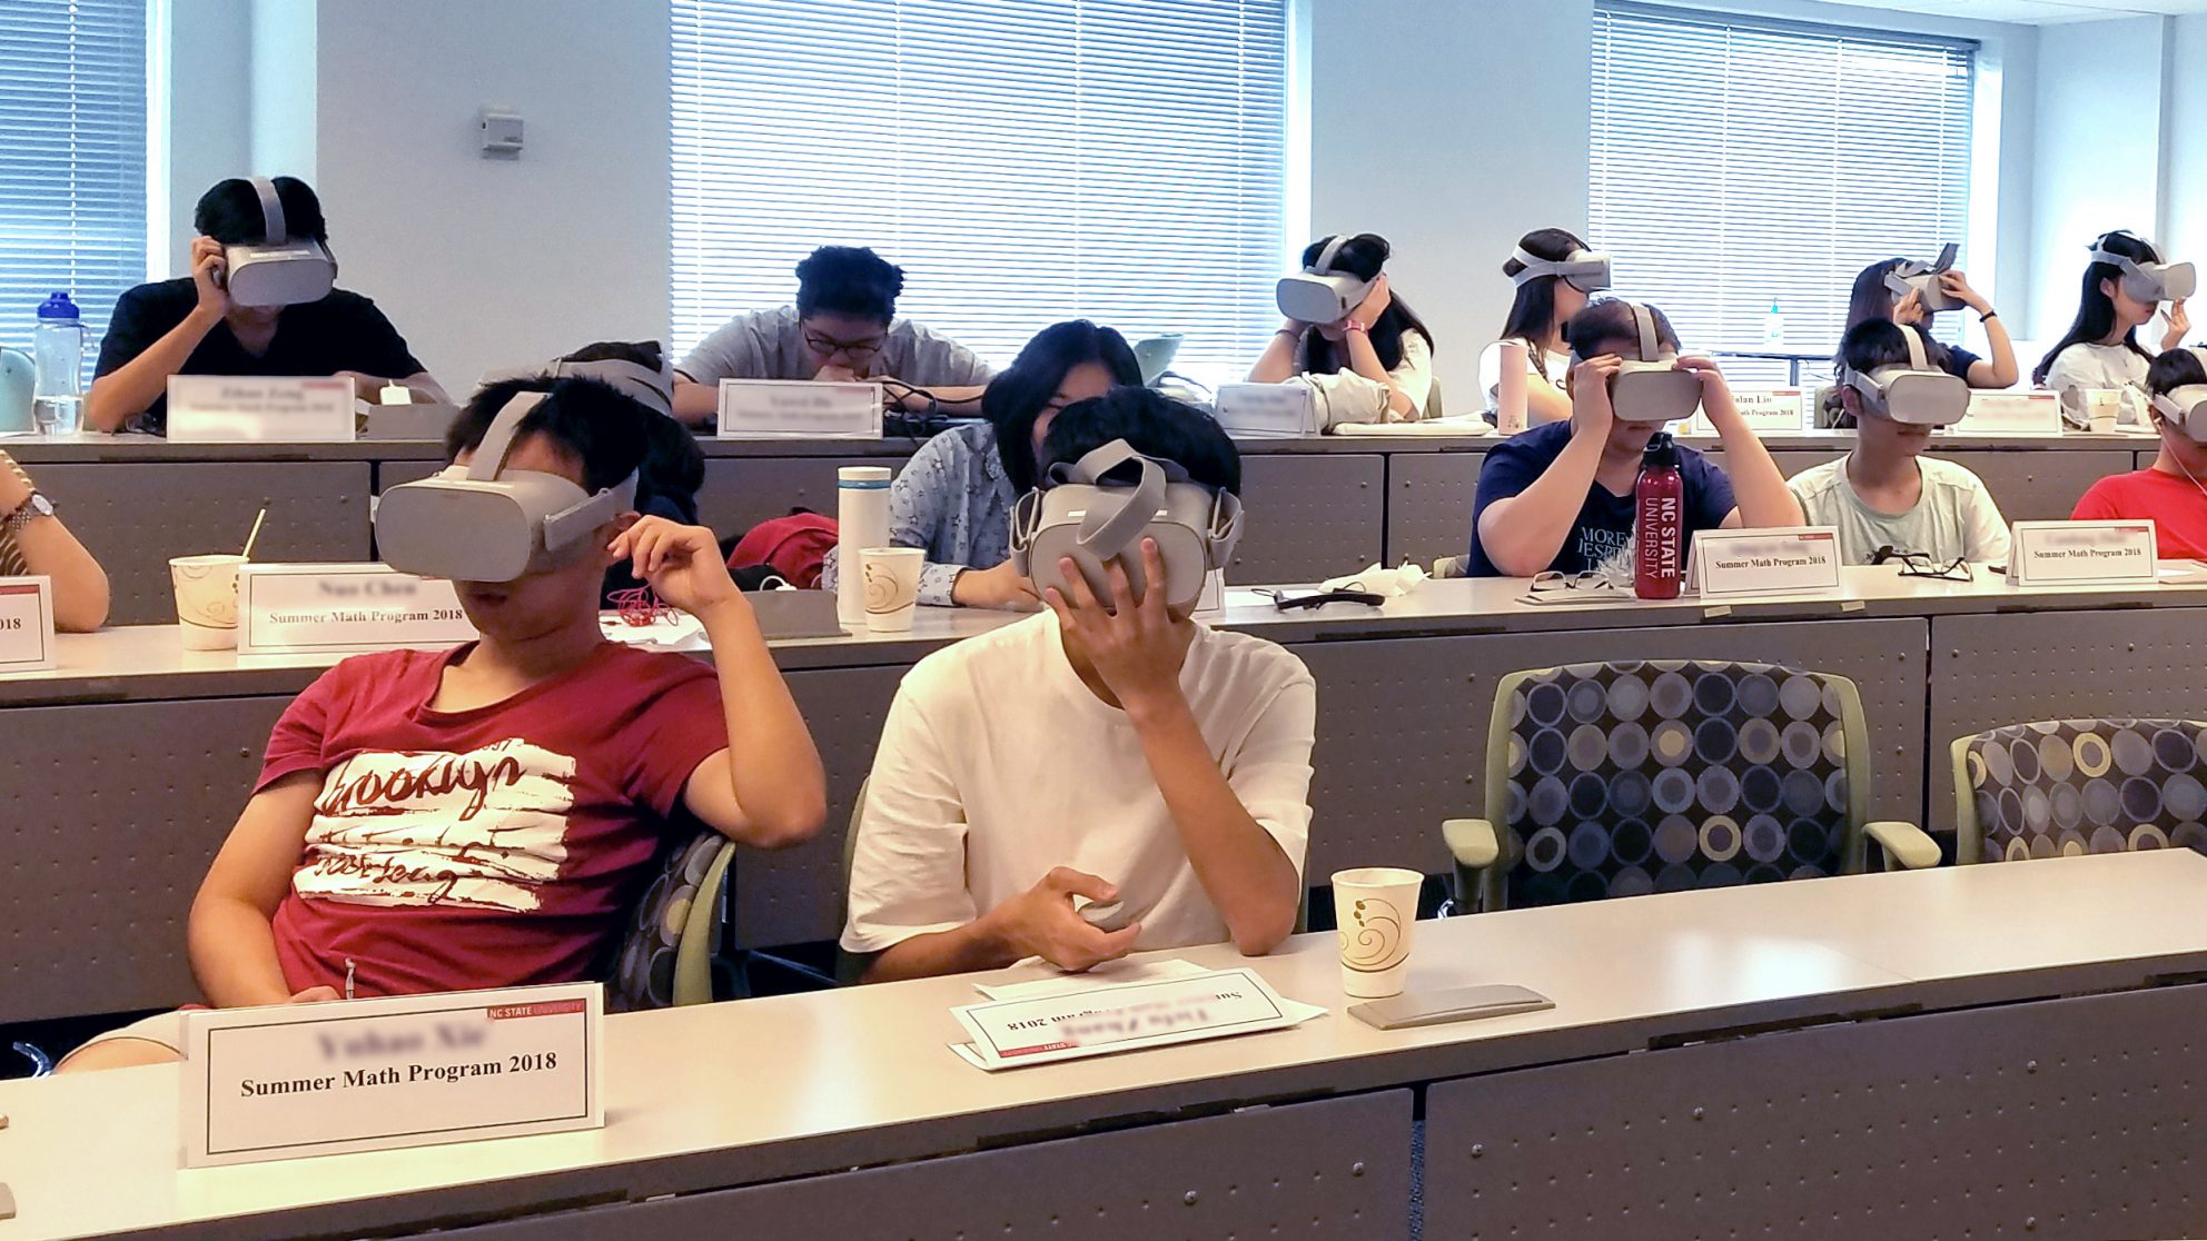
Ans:
{"label": "gray desk panel at far left, beside the red-shirted boy's arm", "polygon": [[183,921],[289,702],[7,713],[0,1025],[199,998]]}

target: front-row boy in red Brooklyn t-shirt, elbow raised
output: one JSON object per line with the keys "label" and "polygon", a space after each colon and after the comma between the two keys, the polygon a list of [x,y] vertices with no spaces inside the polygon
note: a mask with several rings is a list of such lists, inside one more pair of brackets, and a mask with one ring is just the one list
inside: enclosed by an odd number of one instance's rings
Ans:
{"label": "front-row boy in red Brooklyn t-shirt, elbow raised", "polygon": [[[508,468],[589,492],[642,464],[662,417],[591,378],[505,380],[455,420],[455,459],[519,391],[547,395]],[[349,658],[291,702],[192,905],[212,1005],[589,978],[678,813],[757,848],[821,828],[819,753],[713,532],[625,512],[596,539],[455,583],[479,640]],[[603,636],[618,561],[704,623],[711,667]],[[64,1069],[174,1060],[179,1036],[177,1014],[148,1018]]]}

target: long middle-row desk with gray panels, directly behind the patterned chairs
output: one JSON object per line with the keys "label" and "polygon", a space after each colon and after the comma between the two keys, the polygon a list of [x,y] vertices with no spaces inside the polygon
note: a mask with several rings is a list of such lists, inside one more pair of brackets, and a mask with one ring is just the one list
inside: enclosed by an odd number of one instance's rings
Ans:
{"label": "long middle-row desk with gray panels, directly behind the patterned chairs", "polygon": [[[1218,623],[1284,643],[1318,678],[1313,883],[1375,861],[1448,870],[1439,821],[1481,810],[1494,685],[1525,667],[1755,658],[1845,673],[1876,744],[1874,813],[1933,830],[1953,824],[1955,735],[2077,713],[2196,715],[2207,700],[2207,665],[2192,656],[2207,585],[2015,592],[1889,568],[1849,581],[1849,598],[1721,609],[1534,605],[1521,581],[1439,581],[1382,609],[1232,607]],[[775,645],[828,766],[830,826],[737,863],[744,943],[836,934],[841,830],[898,680],[923,654],[1011,620],[923,609],[909,636]],[[139,627],[66,636],[60,669],[0,676],[0,877],[13,892],[0,903],[0,1025],[194,998],[192,892],[269,726],[329,662],[183,651],[174,629]]]}

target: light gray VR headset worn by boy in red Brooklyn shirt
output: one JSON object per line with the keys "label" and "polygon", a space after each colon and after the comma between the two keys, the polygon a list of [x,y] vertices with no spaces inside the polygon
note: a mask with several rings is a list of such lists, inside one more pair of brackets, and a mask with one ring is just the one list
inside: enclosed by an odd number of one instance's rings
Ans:
{"label": "light gray VR headset worn by boy in red Brooklyn shirt", "polygon": [[591,554],[591,532],[636,508],[633,473],[591,495],[561,475],[505,468],[514,431],[545,395],[505,402],[466,466],[382,495],[375,548],[386,565],[450,581],[514,581]]}

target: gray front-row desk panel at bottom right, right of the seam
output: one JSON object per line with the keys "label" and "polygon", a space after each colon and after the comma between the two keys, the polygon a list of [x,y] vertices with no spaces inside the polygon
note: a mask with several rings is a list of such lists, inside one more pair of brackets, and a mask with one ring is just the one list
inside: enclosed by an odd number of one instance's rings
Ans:
{"label": "gray front-row desk panel at bottom right, right of the seam", "polygon": [[2207,987],[1766,1033],[1426,1093],[1428,1237],[2207,1237]]}

